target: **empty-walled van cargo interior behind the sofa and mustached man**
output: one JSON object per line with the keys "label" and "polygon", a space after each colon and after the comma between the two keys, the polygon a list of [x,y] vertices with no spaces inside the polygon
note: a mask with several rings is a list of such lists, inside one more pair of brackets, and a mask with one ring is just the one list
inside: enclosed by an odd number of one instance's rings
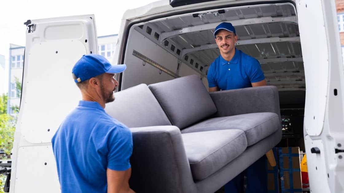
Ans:
{"label": "empty-walled van cargo interior behind the sofa and mustached man", "polygon": [[208,67],[219,56],[213,33],[222,22],[233,24],[236,48],[255,57],[267,85],[279,90],[283,129],[279,146],[304,151],[305,75],[293,3],[227,5],[132,25],[124,52],[124,64],[130,65],[121,90],[193,74],[208,88]]}

